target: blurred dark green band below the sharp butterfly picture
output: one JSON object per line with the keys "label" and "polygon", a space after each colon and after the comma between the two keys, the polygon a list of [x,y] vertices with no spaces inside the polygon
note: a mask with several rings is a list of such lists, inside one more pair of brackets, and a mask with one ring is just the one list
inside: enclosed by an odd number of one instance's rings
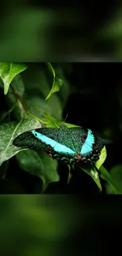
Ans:
{"label": "blurred dark green band below the sharp butterfly picture", "polygon": [[3,256],[89,255],[91,251],[98,255],[99,250],[103,255],[113,250],[120,236],[117,198],[112,202],[110,198],[94,197],[93,201],[66,195],[7,195],[0,197],[0,206]]}

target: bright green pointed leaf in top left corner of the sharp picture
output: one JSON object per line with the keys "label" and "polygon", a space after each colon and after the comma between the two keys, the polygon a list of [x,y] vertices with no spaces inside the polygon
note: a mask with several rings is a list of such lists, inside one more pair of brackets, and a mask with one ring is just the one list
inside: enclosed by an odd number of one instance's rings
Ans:
{"label": "bright green pointed leaf in top left corner of the sharp picture", "polygon": [[17,76],[17,74],[24,71],[25,69],[27,69],[27,65],[22,63],[0,62],[0,77],[4,83],[5,95],[9,91],[9,84],[13,80],[14,76]]}

